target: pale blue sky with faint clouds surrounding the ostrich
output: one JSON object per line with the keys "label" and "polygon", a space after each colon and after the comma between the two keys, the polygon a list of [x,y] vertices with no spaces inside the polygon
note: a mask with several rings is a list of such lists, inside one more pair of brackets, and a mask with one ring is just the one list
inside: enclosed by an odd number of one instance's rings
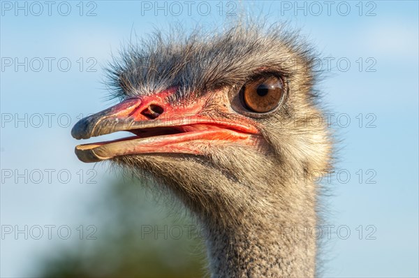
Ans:
{"label": "pale blue sky with faint clouds surrounding the ostrich", "polygon": [[[243,9],[268,22],[290,22],[321,52],[323,68],[325,57],[332,61],[318,88],[335,113],[332,122],[341,139],[337,170],[351,177],[346,182],[343,174],[339,179],[332,175],[326,222],[348,226],[351,236],[332,235],[325,275],[418,277],[418,1],[334,1],[330,14],[323,1],[193,1],[190,15],[184,1],[178,6],[161,1],[161,9],[154,1],[87,1],[82,10],[77,1],[68,2],[66,16],[61,1],[54,2],[50,15],[43,2],[42,12],[30,2],[19,2],[22,10],[15,3],[1,2],[2,227],[89,223],[82,207],[112,173],[96,165],[97,183],[86,184],[93,166],[73,154],[77,142],[71,126],[80,115],[114,103],[105,99],[102,68],[133,31],[143,36],[176,21],[220,26],[228,10]],[[23,64],[15,68],[16,61]],[[347,71],[346,61],[351,65]],[[15,170],[25,169],[29,180],[15,180]],[[10,170],[13,176],[6,178]],[[36,183],[40,171],[43,178]],[[47,171],[53,173],[51,182]],[[66,177],[56,173],[71,178],[65,183]],[[366,240],[374,228],[376,239]],[[2,277],[30,276],[36,252],[71,244],[4,237]]]}

